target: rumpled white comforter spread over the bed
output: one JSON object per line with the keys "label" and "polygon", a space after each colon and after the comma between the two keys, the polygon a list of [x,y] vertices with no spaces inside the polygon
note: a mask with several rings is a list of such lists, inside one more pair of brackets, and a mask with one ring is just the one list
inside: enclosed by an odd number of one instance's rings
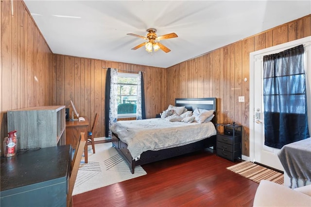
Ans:
{"label": "rumpled white comforter spread over the bed", "polygon": [[111,131],[128,145],[135,160],[148,150],[182,146],[216,135],[212,122],[171,122],[160,118],[117,121],[111,126]]}

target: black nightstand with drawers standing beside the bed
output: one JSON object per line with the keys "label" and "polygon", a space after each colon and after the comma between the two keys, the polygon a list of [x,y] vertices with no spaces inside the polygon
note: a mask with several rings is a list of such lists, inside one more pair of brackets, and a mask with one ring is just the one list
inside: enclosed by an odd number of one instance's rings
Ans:
{"label": "black nightstand with drawers standing beside the bed", "polygon": [[216,130],[216,155],[231,161],[242,158],[242,125],[217,123]]}

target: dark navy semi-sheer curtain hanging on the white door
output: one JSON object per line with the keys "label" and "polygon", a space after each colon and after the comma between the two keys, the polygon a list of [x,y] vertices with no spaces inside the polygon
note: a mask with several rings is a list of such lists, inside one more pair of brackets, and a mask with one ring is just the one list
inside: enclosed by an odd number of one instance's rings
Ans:
{"label": "dark navy semi-sheer curtain hanging on the white door", "polygon": [[309,138],[303,45],[263,57],[264,144]]}

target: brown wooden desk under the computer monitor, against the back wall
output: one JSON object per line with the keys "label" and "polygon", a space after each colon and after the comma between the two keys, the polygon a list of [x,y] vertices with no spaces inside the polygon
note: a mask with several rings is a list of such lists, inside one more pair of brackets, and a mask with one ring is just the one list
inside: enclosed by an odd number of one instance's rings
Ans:
{"label": "brown wooden desk under the computer monitor, against the back wall", "polygon": [[85,163],[87,163],[87,128],[88,120],[86,121],[66,121],[66,144],[71,144],[75,149],[77,141],[80,136],[80,132],[84,132],[84,138],[86,139],[86,147],[84,148]]}

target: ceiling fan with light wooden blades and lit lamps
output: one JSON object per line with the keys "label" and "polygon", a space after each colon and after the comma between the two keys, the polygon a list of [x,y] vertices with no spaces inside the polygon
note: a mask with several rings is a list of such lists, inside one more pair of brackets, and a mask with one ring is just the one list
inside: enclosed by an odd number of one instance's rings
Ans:
{"label": "ceiling fan with light wooden blades and lit lamps", "polygon": [[131,50],[137,50],[138,48],[145,46],[146,51],[148,51],[148,52],[152,52],[152,49],[154,51],[158,51],[159,49],[161,49],[164,52],[171,52],[170,49],[168,49],[167,47],[165,47],[164,45],[162,45],[161,43],[156,42],[156,41],[178,37],[175,33],[157,36],[155,34],[156,29],[154,29],[154,28],[148,29],[147,32],[148,32],[147,37],[141,36],[141,35],[135,35],[135,34],[126,34],[126,35],[137,36],[137,37],[140,37],[142,39],[148,40],[148,42],[141,43],[138,46],[132,48]]}

